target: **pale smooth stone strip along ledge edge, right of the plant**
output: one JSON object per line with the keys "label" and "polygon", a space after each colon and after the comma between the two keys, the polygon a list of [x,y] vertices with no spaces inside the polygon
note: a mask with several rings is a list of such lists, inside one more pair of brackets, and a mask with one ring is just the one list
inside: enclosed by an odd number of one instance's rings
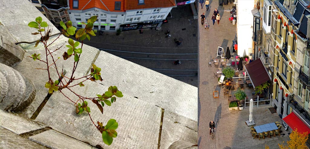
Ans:
{"label": "pale smooth stone strip along ledge edge, right of the plant", "polygon": [[198,90],[179,80],[146,69],[125,59],[100,52],[95,65],[102,68],[102,82],[115,85],[152,105],[197,121]]}

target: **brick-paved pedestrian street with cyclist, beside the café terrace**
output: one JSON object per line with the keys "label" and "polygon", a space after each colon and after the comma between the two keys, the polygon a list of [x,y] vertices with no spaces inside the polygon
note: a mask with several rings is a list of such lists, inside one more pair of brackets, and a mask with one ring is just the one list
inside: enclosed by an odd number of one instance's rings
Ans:
{"label": "brick-paved pedestrian street with cyclist, beside the caf\u00e9 terrace", "polygon": [[[214,65],[208,67],[212,57],[216,57],[218,46],[229,46],[232,49],[232,40],[236,38],[236,25],[232,25],[228,18],[230,13],[225,11],[232,8],[232,5],[219,6],[217,0],[210,0],[210,9],[206,7],[199,8],[198,16],[203,12],[208,15],[213,14],[215,8],[218,8],[221,20],[205,29],[198,19],[198,44],[199,44],[199,85],[198,85],[198,147],[199,149],[222,149],[226,146],[232,149],[264,148],[265,144],[270,148],[278,148],[278,143],[288,140],[286,130],[282,129],[280,137],[266,138],[259,140],[253,139],[250,134],[250,127],[246,126],[245,121],[249,119],[249,109],[228,110],[227,96],[223,97],[222,88],[218,86],[217,79],[213,78],[213,72],[216,71]],[[239,43],[242,41],[238,41]],[[219,57],[218,57],[219,58]],[[219,98],[213,99],[213,91],[219,91]],[[271,106],[254,107],[254,121],[256,126],[281,121],[277,113],[271,114],[268,110]],[[216,124],[215,138],[212,140],[209,135],[209,122],[213,120]]]}

